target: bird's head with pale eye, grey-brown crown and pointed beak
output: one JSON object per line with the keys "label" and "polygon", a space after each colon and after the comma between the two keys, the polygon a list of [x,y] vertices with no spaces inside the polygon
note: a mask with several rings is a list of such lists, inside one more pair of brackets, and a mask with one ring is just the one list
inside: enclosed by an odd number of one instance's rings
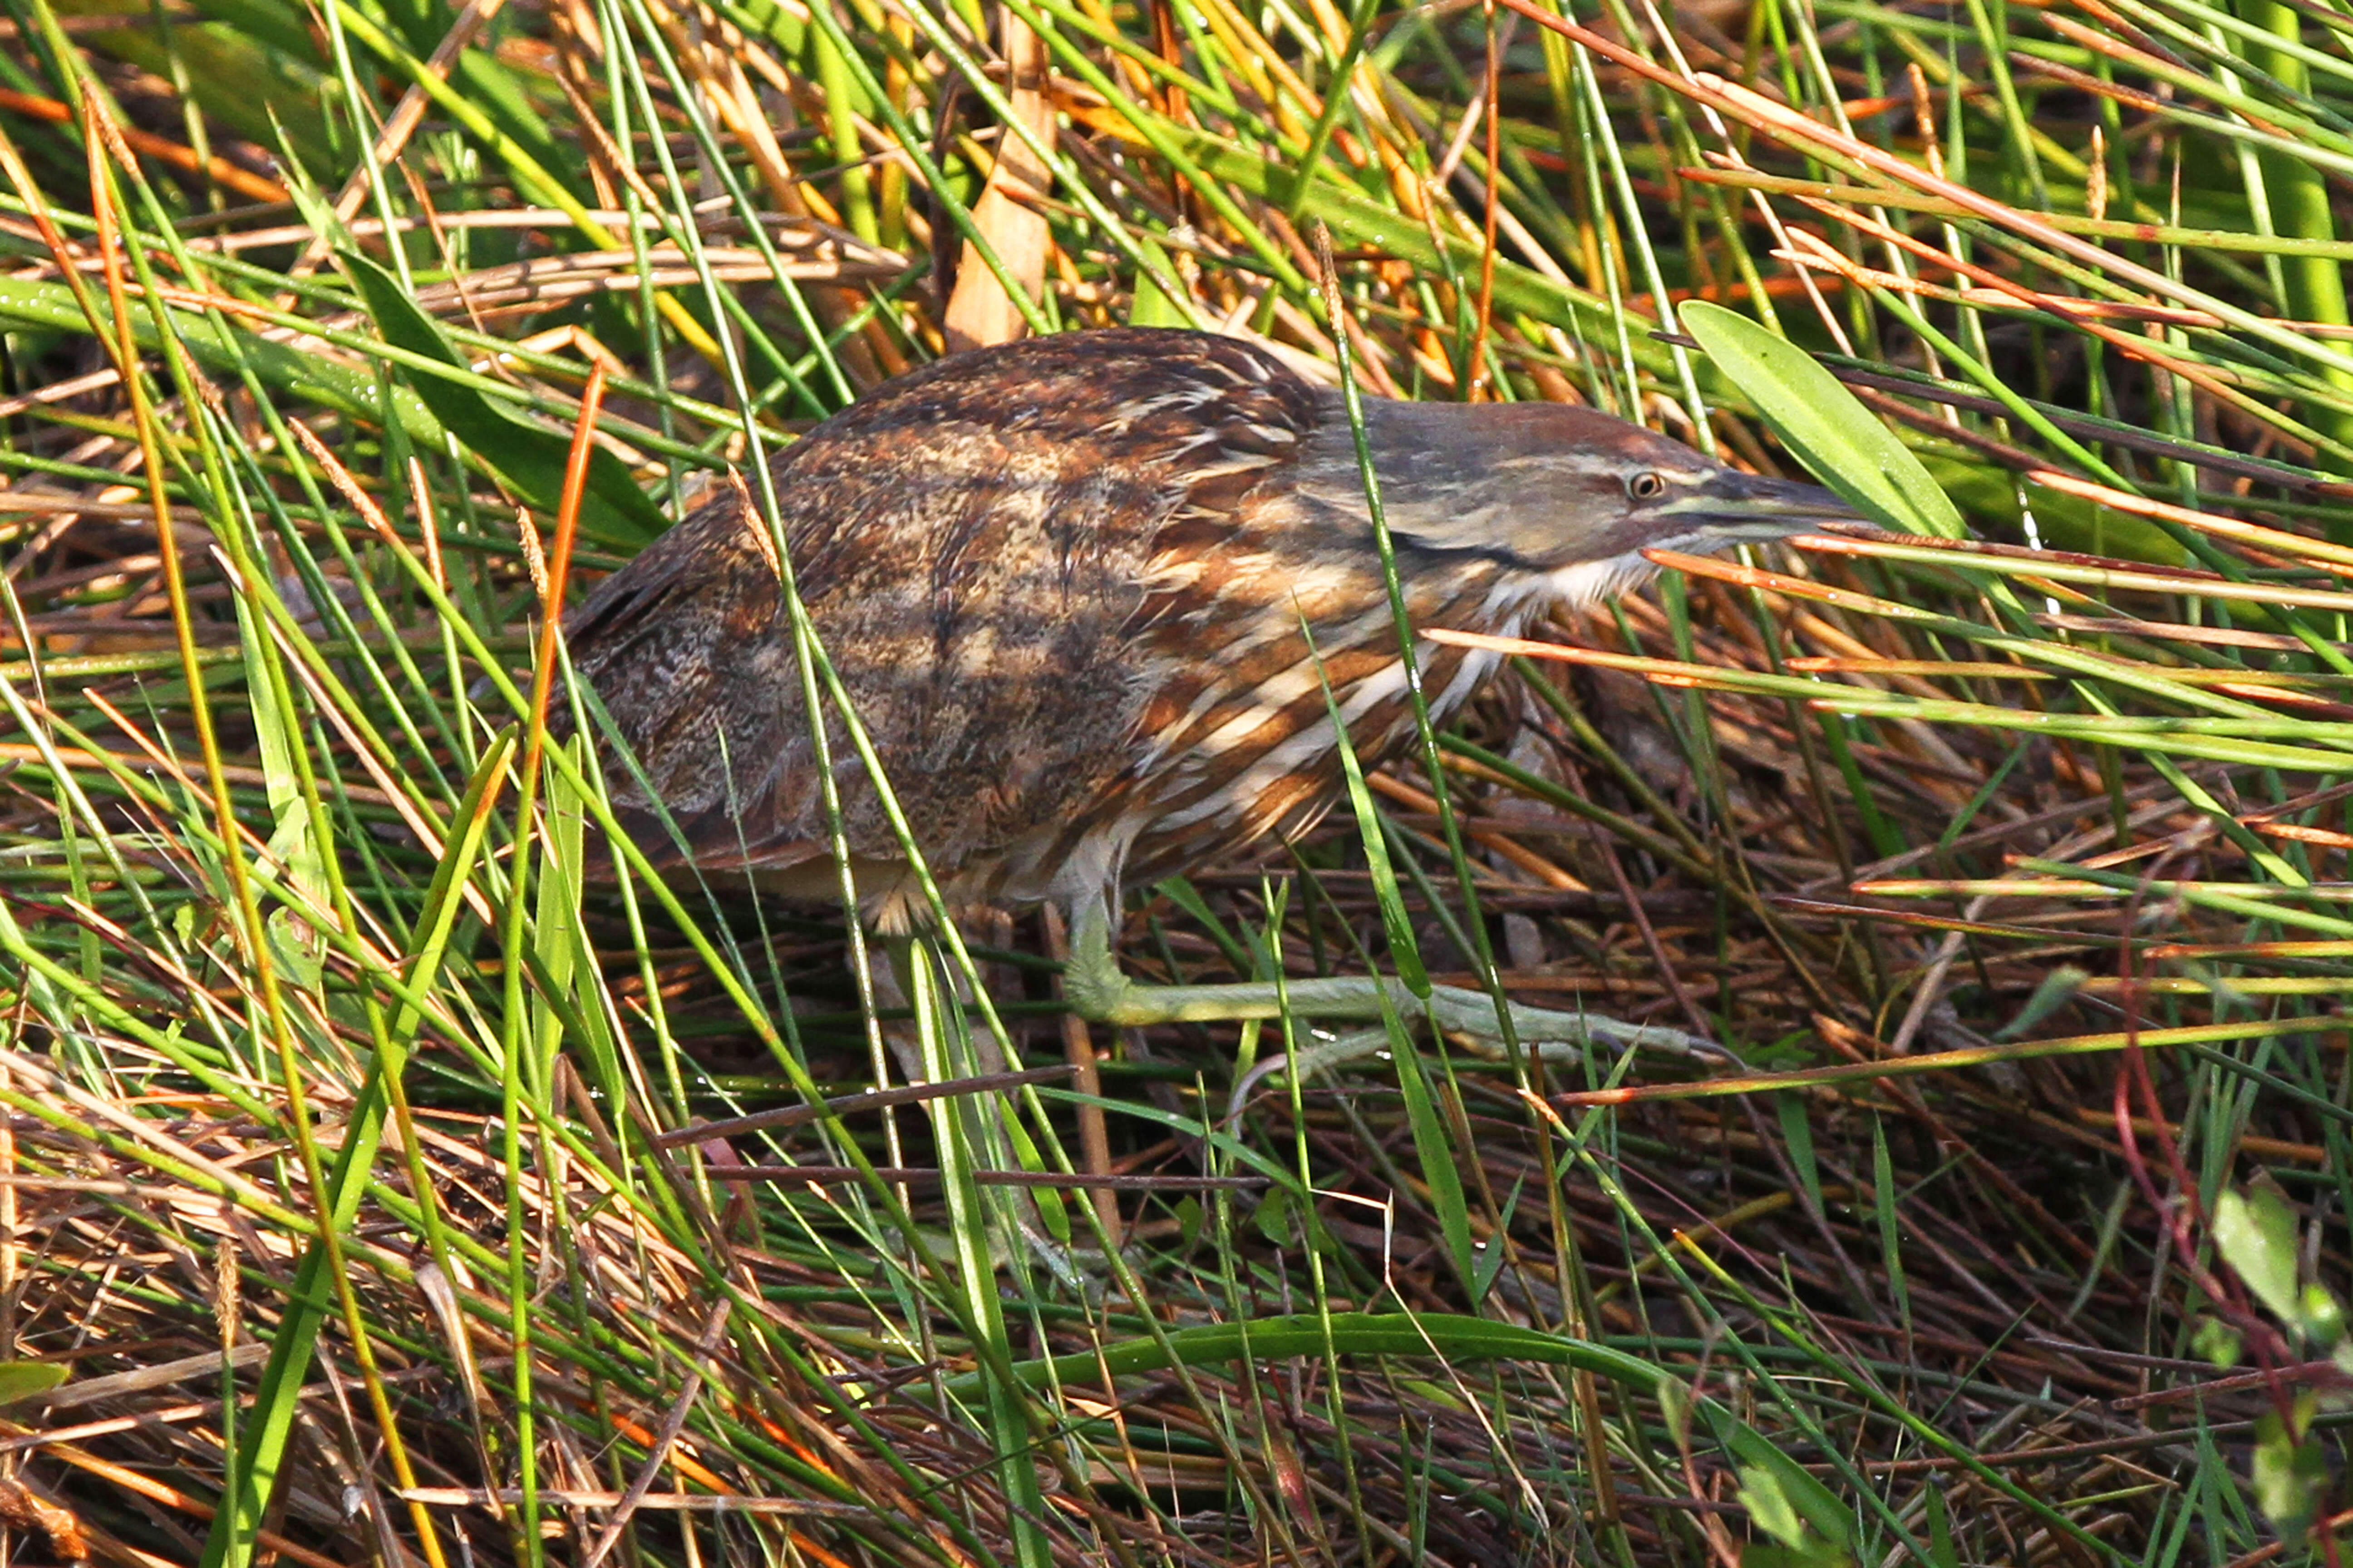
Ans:
{"label": "bird's head with pale eye, grey-brown crown and pointed beak", "polygon": [[[1362,512],[1346,414],[1301,461],[1304,487]],[[1487,559],[1504,585],[1591,602],[1647,574],[1642,550],[1722,550],[1859,522],[1814,484],[1727,468],[1621,418],[1548,402],[1365,402],[1381,512],[1400,552]],[[1400,562],[1405,564],[1405,562]]]}

